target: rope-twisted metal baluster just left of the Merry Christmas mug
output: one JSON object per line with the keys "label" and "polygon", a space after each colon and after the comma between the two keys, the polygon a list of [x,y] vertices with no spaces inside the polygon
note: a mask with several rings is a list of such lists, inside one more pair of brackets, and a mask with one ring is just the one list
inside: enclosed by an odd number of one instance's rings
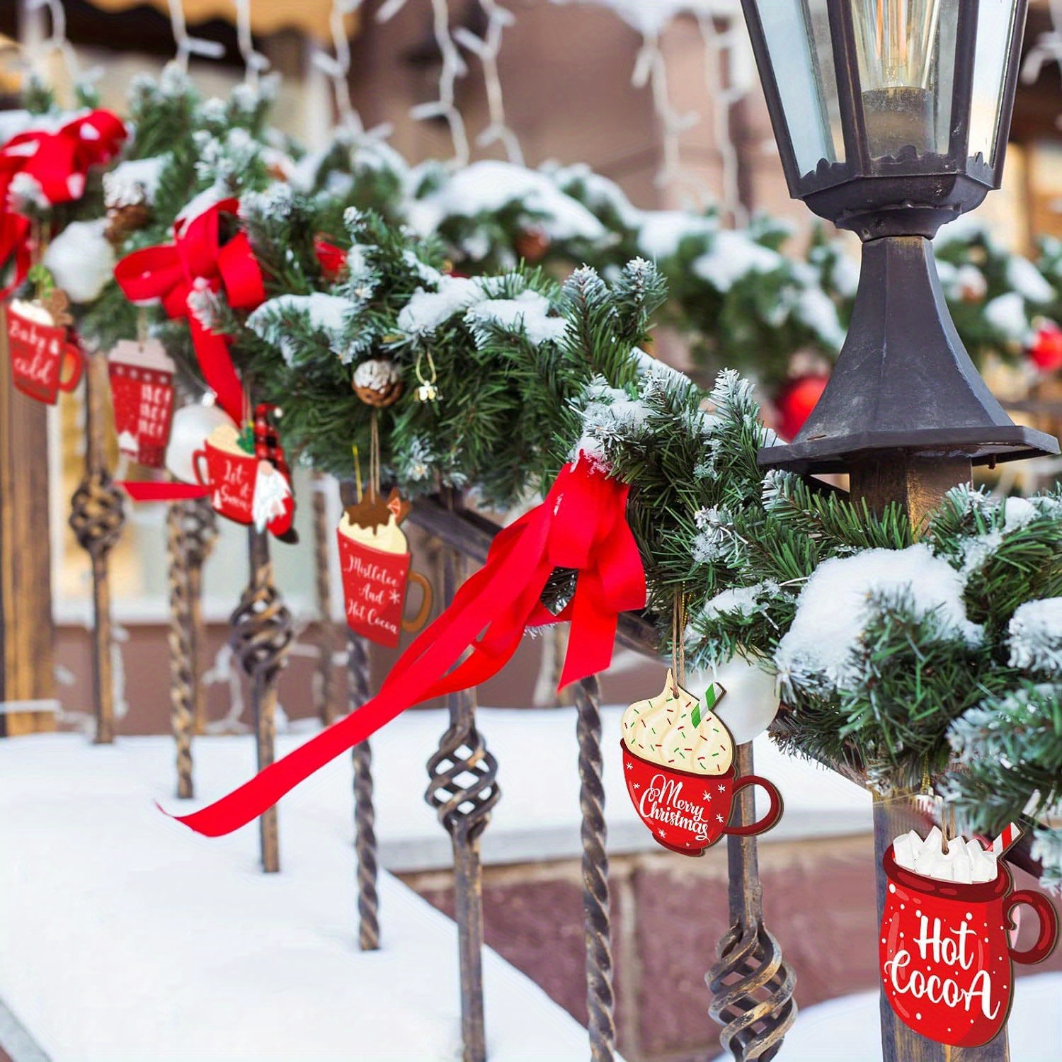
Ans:
{"label": "rope-twisted metal baluster just left of the Merry Christmas mug", "polygon": [[604,785],[601,780],[601,687],[597,675],[576,686],[579,737],[579,807],[583,840],[583,936],[586,941],[586,1009],[590,1059],[612,1062],[616,1045],[613,1018],[612,926],[609,910],[609,855],[605,852]]}

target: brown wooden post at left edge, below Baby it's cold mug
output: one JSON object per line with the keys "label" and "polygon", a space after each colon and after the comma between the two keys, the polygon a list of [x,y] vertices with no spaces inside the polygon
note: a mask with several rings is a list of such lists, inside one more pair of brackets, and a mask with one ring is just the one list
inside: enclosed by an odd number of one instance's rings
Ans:
{"label": "brown wooden post at left edge, below Baby it's cold mug", "polygon": [[48,410],[12,386],[0,310],[0,737],[55,730]]}

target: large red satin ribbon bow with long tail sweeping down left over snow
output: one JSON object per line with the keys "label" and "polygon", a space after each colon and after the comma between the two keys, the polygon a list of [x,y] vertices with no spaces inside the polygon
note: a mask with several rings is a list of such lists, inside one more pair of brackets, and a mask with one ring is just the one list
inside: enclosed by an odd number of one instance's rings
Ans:
{"label": "large red satin ribbon bow with long tail sweeping down left over snow", "polygon": [[[406,708],[496,674],[525,627],[571,620],[562,687],[603,671],[619,613],[646,603],[641,559],[627,526],[628,490],[585,460],[565,465],[546,500],[498,534],[483,567],[402,653],[376,697],[227,796],[177,821],[207,837],[238,829]],[[554,568],[578,572],[575,597],[560,616],[538,601]]]}

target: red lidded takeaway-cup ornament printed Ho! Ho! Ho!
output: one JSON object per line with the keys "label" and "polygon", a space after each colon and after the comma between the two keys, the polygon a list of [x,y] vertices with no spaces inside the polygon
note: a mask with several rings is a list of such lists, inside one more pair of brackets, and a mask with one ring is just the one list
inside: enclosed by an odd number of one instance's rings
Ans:
{"label": "red lidded takeaway-cup ornament printed Ho! Ho! Ho!", "polygon": [[157,340],[122,340],[107,358],[118,448],[150,468],[161,468],[173,423],[172,359]]}

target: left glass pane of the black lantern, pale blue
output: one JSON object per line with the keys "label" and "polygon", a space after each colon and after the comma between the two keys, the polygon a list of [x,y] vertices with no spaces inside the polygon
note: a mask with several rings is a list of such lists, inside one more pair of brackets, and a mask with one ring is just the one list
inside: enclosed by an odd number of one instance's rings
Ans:
{"label": "left glass pane of the black lantern, pale blue", "polygon": [[760,0],[757,5],[785,112],[796,171],[844,160],[827,0]]}

